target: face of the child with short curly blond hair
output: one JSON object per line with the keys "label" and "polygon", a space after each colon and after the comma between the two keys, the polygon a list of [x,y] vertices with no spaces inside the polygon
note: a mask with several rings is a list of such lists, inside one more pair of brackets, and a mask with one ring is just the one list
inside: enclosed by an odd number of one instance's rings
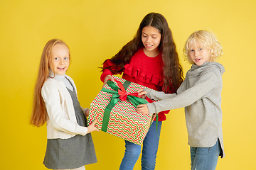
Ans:
{"label": "face of the child with short curly blond hair", "polygon": [[191,62],[201,66],[205,62],[210,61],[210,51],[208,48],[203,48],[200,45],[191,45],[188,52]]}

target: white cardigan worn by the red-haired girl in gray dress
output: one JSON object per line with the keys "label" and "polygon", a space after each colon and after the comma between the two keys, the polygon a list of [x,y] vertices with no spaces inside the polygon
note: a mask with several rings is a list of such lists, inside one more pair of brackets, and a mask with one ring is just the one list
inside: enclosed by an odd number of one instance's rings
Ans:
{"label": "white cardigan worn by the red-haired girl in gray dress", "polygon": [[[75,88],[73,79],[65,75]],[[78,125],[72,98],[63,81],[48,78],[42,87],[43,101],[49,116],[47,121],[48,139],[68,139],[75,135],[86,135],[87,128]],[[87,108],[82,108],[85,112]]]}

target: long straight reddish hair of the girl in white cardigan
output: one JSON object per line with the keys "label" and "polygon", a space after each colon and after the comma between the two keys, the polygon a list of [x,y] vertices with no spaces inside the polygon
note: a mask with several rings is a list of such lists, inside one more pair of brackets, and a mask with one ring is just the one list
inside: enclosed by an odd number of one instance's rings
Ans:
{"label": "long straight reddish hair of the girl in white cardigan", "polygon": [[53,70],[53,46],[57,44],[65,45],[68,47],[68,45],[66,45],[62,40],[52,39],[46,43],[41,55],[38,77],[36,79],[36,85],[34,89],[33,108],[30,120],[30,124],[37,127],[44,125],[44,123],[46,123],[48,120],[48,113],[46,111],[46,106],[41,95],[41,89],[44,82],[49,77],[49,71]]}

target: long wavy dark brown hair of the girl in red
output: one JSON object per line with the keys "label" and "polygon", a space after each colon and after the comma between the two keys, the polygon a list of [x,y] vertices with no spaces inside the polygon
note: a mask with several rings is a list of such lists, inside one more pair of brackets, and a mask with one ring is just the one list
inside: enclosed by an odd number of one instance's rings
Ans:
{"label": "long wavy dark brown hair of the girl in red", "polygon": [[[146,26],[152,26],[161,33],[161,42],[159,50],[163,59],[164,72],[164,89],[166,93],[174,93],[183,81],[183,69],[178,61],[178,53],[176,45],[168,26],[166,18],[160,13],[147,14],[139,25],[134,38],[129,41],[122,49],[117,52],[110,60],[114,63],[113,66],[103,67],[102,69],[110,69],[113,74],[119,74],[124,69],[124,65],[129,63],[132,56],[142,47],[142,29]],[[106,62],[106,61],[105,61]]]}

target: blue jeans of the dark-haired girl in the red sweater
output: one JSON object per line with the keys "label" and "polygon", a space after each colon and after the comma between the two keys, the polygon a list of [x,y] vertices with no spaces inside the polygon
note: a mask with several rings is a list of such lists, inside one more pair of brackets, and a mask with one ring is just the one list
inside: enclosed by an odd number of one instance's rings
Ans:
{"label": "blue jeans of the dark-haired girl in the red sweater", "polygon": [[[156,132],[156,121],[149,128],[149,132],[143,141],[142,170],[154,169],[156,165],[156,153],[159,145],[159,136],[162,122],[158,122],[158,134]],[[141,146],[132,142],[125,142],[125,153],[119,170],[132,170],[141,153]]]}

